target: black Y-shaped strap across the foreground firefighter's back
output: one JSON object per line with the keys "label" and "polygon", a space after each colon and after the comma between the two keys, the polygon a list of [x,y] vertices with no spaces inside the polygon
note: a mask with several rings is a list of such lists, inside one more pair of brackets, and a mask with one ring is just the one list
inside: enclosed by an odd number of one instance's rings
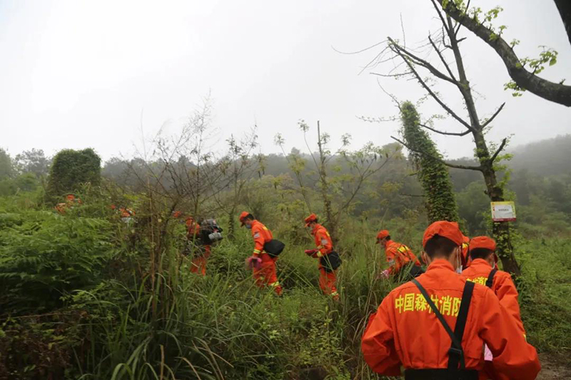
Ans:
{"label": "black Y-shaped strap across the foreground firefighter's back", "polygon": [[423,294],[426,302],[430,306],[430,309],[433,309],[435,316],[440,321],[440,324],[443,325],[444,329],[450,336],[450,340],[452,340],[452,345],[450,346],[450,350],[448,350],[448,354],[450,357],[448,358],[448,369],[458,369],[458,362],[460,362],[460,369],[465,369],[465,362],[464,362],[464,351],[462,349],[462,337],[464,335],[464,328],[466,325],[466,319],[468,317],[468,307],[470,307],[470,301],[472,299],[472,293],[474,289],[474,283],[467,281],[464,286],[464,291],[462,294],[462,301],[460,302],[460,310],[458,311],[458,318],[456,319],[456,327],[455,332],[452,332],[448,323],[446,323],[442,314],[440,314],[440,310],[434,304],[433,300],[430,299],[426,289],[418,282],[416,279],[413,279],[413,284],[418,287],[420,293]]}

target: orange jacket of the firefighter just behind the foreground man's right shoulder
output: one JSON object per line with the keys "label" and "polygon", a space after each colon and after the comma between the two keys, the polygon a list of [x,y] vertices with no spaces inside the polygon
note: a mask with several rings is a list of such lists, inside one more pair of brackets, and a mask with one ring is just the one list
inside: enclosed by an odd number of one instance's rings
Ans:
{"label": "orange jacket of the firefighter just behind the foreground man's right shoulder", "polygon": [[[487,277],[492,272],[492,267],[483,259],[476,259],[470,263],[470,267],[462,272],[462,277],[468,281],[485,285]],[[492,282],[492,292],[495,293],[500,304],[515,319],[515,324],[520,328],[523,334],[523,322],[520,315],[520,304],[517,303],[517,289],[513,283],[509,273],[498,270],[494,275]]]}

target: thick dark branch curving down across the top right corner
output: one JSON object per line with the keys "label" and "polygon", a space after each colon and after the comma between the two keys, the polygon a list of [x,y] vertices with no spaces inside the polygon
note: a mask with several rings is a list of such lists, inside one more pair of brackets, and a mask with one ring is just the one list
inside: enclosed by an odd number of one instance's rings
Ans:
{"label": "thick dark branch curving down across the top right corner", "polygon": [[[443,5],[444,0],[436,0]],[[561,83],[553,83],[546,79],[530,73],[522,66],[520,58],[517,57],[511,46],[504,41],[501,36],[495,34],[491,29],[470,18],[464,11],[458,9],[454,1],[447,1],[444,11],[450,15],[455,21],[462,24],[466,29],[471,31],[476,36],[480,37],[482,41],[487,43],[495,50],[498,56],[502,58],[507,73],[515,81],[517,86],[525,88],[530,93],[552,101],[562,104],[563,106],[571,106],[571,86],[565,86]]]}

